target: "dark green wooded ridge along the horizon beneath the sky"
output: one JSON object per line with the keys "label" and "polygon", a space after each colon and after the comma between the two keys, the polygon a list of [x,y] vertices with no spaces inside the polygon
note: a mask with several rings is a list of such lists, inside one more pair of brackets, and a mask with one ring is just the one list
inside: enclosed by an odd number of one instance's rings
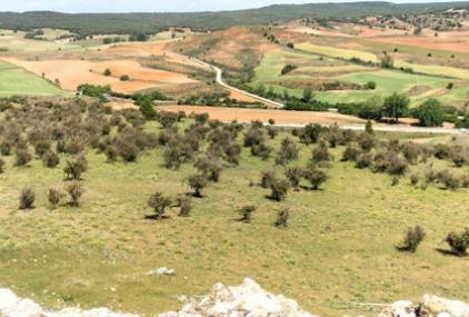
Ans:
{"label": "dark green wooded ridge along the horizon beneath the sky", "polygon": [[0,12],[0,28],[30,30],[34,28],[67,29],[80,34],[152,33],[170,27],[188,27],[197,31],[233,26],[265,24],[293,19],[357,19],[373,14],[420,14],[451,8],[469,8],[469,1],[406,3],[351,2],[276,4],[260,9],[193,13],[59,13],[34,11]]}

